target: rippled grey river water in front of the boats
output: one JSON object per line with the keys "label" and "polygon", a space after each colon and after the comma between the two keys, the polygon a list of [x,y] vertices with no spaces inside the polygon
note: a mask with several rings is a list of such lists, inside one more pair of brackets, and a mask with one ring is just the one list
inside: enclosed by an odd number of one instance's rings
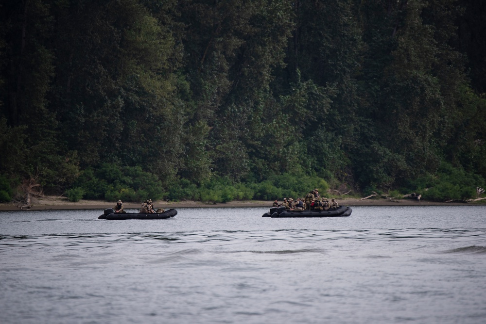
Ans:
{"label": "rippled grey river water in front of the boats", "polygon": [[486,323],[486,206],[0,212],[0,323]]}

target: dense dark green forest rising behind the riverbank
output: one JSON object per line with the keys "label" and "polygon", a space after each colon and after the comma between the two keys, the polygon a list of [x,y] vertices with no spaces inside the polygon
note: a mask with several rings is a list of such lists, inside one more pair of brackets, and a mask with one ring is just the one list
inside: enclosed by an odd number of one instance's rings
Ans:
{"label": "dense dark green forest rising behind the riverbank", "polygon": [[476,198],[482,0],[3,0],[0,201]]}

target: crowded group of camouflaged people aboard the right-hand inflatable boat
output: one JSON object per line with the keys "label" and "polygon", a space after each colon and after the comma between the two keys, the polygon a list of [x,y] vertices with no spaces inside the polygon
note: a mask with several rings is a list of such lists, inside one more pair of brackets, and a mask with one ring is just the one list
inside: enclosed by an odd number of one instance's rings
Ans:
{"label": "crowded group of camouflaged people aboard the right-hand inflatable boat", "polygon": [[328,211],[337,209],[339,207],[336,199],[332,198],[329,201],[326,197],[319,195],[317,189],[309,191],[304,198],[297,198],[294,201],[293,198],[283,198],[283,203],[279,204],[278,200],[275,200],[272,207],[284,206],[287,211]]}

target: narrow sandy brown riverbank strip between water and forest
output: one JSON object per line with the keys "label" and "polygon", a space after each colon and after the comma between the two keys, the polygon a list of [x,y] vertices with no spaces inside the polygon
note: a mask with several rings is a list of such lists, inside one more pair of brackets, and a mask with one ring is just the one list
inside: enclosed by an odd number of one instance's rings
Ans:
{"label": "narrow sandy brown riverbank strip between water and forest", "polygon": [[[432,201],[418,201],[416,199],[359,199],[359,198],[345,198],[338,199],[340,205],[343,206],[474,206],[477,203],[460,203],[460,202],[432,202]],[[281,201],[280,201],[281,203]],[[484,204],[484,203],[482,203]],[[115,202],[107,202],[102,200],[80,200],[79,202],[70,202],[64,197],[41,197],[36,198],[30,207],[22,206],[19,204],[9,203],[0,204],[0,211],[19,211],[19,210],[31,210],[31,211],[43,211],[43,210],[104,210],[106,208],[112,208],[115,206]],[[123,203],[125,209],[138,209],[140,203]],[[272,201],[261,200],[249,200],[249,201],[230,201],[227,203],[211,204],[201,201],[180,201],[180,202],[167,202],[159,200],[154,202],[155,208],[231,208],[231,207],[268,207],[272,206]]]}

